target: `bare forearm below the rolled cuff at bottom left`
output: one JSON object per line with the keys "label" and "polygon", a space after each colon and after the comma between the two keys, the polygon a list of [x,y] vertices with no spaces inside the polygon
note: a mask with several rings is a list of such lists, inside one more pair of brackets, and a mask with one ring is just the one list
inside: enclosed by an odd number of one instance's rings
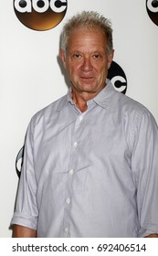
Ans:
{"label": "bare forearm below the rolled cuff at bottom left", "polygon": [[14,226],[14,232],[13,232],[14,238],[36,238],[37,237],[37,230],[34,229],[28,229],[23,226],[15,225]]}

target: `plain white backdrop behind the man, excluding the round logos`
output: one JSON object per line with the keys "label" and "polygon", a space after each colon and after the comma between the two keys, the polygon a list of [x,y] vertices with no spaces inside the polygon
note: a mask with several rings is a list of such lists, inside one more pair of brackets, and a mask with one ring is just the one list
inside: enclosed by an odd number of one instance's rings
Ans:
{"label": "plain white backdrop behind the man, excluding the round logos", "polygon": [[67,14],[50,30],[37,32],[16,18],[13,0],[0,8],[0,237],[11,237],[18,177],[16,155],[32,115],[67,92],[58,66],[58,37],[69,16],[99,11],[111,19],[114,61],[124,70],[126,94],[145,105],[158,122],[158,27],[146,0],[68,0]]}

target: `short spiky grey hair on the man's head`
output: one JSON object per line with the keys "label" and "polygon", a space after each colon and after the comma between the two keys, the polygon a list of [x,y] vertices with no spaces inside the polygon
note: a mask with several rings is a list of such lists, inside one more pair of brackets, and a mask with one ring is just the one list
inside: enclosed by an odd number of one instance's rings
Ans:
{"label": "short spiky grey hair on the man's head", "polygon": [[63,27],[60,37],[60,48],[63,49],[64,52],[66,52],[66,49],[68,48],[68,37],[70,32],[77,27],[100,28],[107,38],[108,53],[111,54],[113,49],[111,21],[93,11],[83,11],[68,19],[68,22]]}

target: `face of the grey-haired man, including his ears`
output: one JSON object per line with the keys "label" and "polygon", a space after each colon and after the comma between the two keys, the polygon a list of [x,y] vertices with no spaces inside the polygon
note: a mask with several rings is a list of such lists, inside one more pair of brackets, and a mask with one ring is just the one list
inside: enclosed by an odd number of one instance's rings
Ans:
{"label": "face of the grey-haired man, including his ears", "polygon": [[68,38],[66,54],[61,50],[60,57],[72,91],[97,94],[105,87],[113,52],[108,54],[107,40],[101,30],[74,29]]}

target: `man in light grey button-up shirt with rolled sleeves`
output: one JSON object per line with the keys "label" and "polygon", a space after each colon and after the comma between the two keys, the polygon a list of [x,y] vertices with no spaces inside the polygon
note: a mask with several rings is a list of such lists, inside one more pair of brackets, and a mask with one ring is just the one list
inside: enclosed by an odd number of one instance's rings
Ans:
{"label": "man in light grey button-up shirt with rolled sleeves", "polygon": [[107,80],[109,20],[63,28],[68,94],[32,118],[12,219],[15,237],[157,237],[158,128]]}

